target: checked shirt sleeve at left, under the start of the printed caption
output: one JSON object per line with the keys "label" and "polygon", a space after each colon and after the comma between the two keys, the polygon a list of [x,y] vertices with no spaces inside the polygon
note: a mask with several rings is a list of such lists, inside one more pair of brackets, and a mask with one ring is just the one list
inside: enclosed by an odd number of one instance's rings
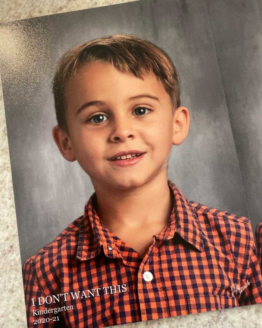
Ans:
{"label": "checked shirt sleeve at left, under the start of the printed caption", "polygon": [[[48,310],[51,311],[48,304],[38,305],[38,297],[45,298],[46,295],[33,274],[31,260],[27,260],[23,265],[23,280],[28,328],[65,327],[63,318],[58,314],[48,313]],[[38,311],[43,311],[43,314],[39,315]]]}

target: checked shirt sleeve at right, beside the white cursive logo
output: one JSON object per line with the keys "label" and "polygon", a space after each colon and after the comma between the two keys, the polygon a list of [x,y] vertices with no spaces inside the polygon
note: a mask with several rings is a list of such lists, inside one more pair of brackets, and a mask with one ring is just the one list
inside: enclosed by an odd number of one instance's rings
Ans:
{"label": "checked shirt sleeve at right, beside the white cursive logo", "polygon": [[262,303],[262,276],[252,230],[249,263],[240,288],[239,306]]}

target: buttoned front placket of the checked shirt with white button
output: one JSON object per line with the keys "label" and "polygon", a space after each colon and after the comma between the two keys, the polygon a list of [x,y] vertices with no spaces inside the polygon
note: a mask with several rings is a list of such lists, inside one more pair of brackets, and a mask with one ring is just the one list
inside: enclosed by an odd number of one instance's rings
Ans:
{"label": "buttoned front placket of the checked shirt with white button", "polygon": [[158,247],[159,239],[154,236],[154,241],[139,267],[138,297],[142,321],[169,316],[165,290],[161,281]]}

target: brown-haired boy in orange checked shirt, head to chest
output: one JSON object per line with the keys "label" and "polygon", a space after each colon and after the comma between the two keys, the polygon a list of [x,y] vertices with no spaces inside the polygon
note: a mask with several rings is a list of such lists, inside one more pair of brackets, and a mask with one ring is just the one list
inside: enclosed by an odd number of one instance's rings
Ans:
{"label": "brown-haired boy in orange checked shirt, head to chest", "polygon": [[167,180],[189,130],[168,55],[132,35],[69,50],[54,77],[53,138],[95,194],[24,264],[29,327],[104,327],[262,301],[250,221]]}

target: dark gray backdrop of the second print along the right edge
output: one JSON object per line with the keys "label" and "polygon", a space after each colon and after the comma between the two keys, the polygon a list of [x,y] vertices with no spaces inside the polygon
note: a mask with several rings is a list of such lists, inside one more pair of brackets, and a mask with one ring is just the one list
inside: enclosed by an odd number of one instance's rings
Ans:
{"label": "dark gray backdrop of the second print along the right edge", "polygon": [[206,4],[254,230],[262,221],[262,1]]}

